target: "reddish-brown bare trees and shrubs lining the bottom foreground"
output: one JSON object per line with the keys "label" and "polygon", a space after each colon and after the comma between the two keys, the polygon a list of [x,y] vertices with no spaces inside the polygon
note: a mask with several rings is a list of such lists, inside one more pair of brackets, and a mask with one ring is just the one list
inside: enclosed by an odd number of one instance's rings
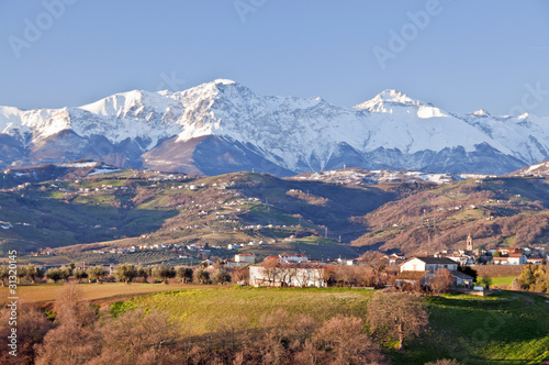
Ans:
{"label": "reddish-brown bare trees and shrubs lining the bottom foreground", "polygon": [[[18,357],[4,351],[1,363],[386,364],[383,346],[397,343],[402,349],[428,325],[421,296],[391,291],[378,292],[365,318],[336,314],[315,320],[279,309],[254,322],[227,317],[210,334],[192,339],[161,311],[100,311],[82,301],[74,285],[59,292],[54,322],[24,306],[18,318]],[[5,349],[9,316],[7,309],[0,312],[0,346]]]}

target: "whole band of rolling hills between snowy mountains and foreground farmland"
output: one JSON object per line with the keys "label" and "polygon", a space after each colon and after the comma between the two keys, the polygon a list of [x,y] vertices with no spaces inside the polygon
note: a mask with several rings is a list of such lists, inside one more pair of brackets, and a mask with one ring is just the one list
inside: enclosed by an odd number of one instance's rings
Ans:
{"label": "whole band of rolling hills between snowy mountains and foreground farmland", "polygon": [[93,162],[11,169],[0,179],[0,250],[46,266],[150,265],[235,253],[413,255],[460,250],[468,234],[482,250],[549,242],[544,177],[365,174],[203,177]]}

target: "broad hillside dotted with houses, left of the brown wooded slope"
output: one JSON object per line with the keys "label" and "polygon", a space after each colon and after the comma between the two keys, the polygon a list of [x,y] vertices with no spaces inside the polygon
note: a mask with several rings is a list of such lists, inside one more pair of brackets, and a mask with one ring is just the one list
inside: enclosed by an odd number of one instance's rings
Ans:
{"label": "broad hillside dotted with houses, left of the brown wooded slope", "polygon": [[221,247],[216,256],[229,257],[234,252],[226,250],[228,244],[264,241],[268,245],[245,251],[259,256],[300,252],[317,258],[354,257],[360,251],[340,242],[360,236],[366,228],[351,218],[395,197],[378,187],[292,181],[253,173],[193,177],[120,170],[65,177],[0,191],[4,226],[0,251],[58,247],[56,254],[68,261],[150,264],[178,255],[109,257],[90,250],[208,243]]}

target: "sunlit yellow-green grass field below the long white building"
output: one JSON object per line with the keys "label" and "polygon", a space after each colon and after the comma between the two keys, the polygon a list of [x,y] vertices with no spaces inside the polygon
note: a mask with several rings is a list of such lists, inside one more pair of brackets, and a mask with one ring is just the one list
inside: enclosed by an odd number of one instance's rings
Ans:
{"label": "sunlit yellow-green grass field below the long white building", "polygon": [[337,313],[363,317],[372,290],[346,288],[237,288],[210,286],[137,297],[119,307],[156,308],[170,312],[183,324],[186,334],[200,336],[215,330],[228,317],[244,317],[254,327],[267,312],[282,308],[310,313],[316,320]]}

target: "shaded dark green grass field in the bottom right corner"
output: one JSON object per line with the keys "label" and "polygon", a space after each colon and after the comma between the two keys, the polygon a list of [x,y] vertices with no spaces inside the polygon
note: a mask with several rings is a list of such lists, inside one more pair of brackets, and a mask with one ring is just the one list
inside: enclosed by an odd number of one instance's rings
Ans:
{"label": "shaded dark green grass field in the bottom right corner", "polygon": [[549,305],[502,291],[490,297],[429,299],[432,330],[395,354],[396,364],[452,357],[464,364],[540,364],[549,358]]}

